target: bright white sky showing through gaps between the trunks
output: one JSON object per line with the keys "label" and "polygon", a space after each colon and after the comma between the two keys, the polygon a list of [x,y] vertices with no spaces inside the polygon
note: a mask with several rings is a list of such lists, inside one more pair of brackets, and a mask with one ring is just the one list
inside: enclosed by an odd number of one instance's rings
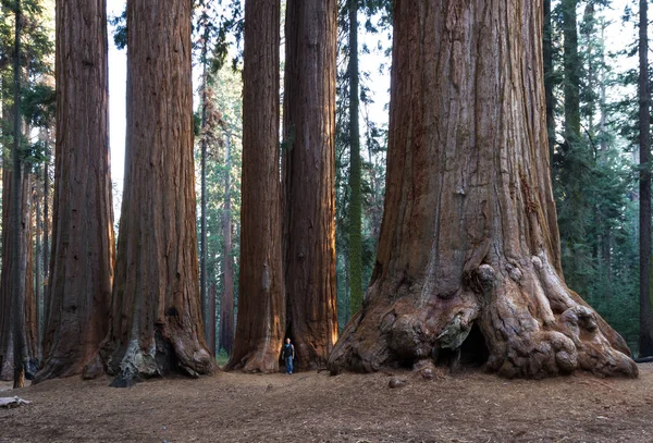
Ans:
{"label": "bright white sky showing through gaps between the trunks", "polygon": [[[608,49],[623,49],[628,42],[636,38],[636,29],[632,24],[621,25],[621,15],[624,8],[632,0],[613,0],[612,10],[606,12],[613,24],[606,29],[608,37]],[[124,0],[108,0],[107,11],[109,17],[120,15],[125,8]],[[579,10],[579,14],[582,10]],[[579,15],[580,16],[580,15]],[[126,51],[119,50],[113,44],[112,30],[109,29],[109,107],[110,107],[110,146],[111,146],[111,176],[115,186],[114,202],[120,201],[122,194],[122,184],[124,179],[124,146],[125,146],[125,95],[126,95]],[[378,37],[371,37],[367,40],[369,47],[374,47]],[[389,101],[390,76],[387,70],[385,74],[378,72],[380,63],[386,62],[382,57],[375,53],[361,54],[360,67],[370,72],[371,77],[368,86],[371,88],[375,103],[369,109],[372,119],[383,124],[387,122],[387,110],[385,104]],[[625,69],[631,63],[637,65],[636,59],[624,59],[619,61],[619,69]],[[197,75],[195,75],[197,78]],[[365,110],[362,110],[365,111]],[[116,220],[119,219],[120,207],[116,207]]]}

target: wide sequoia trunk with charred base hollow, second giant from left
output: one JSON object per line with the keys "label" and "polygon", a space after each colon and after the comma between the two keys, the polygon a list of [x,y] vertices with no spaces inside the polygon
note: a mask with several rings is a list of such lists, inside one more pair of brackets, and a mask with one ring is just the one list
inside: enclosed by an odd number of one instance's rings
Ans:
{"label": "wide sequoia trunk with charred base hollow, second giant from left", "polygon": [[102,354],[124,379],[210,373],[199,304],[190,12],[127,2],[127,139],[111,323]]}

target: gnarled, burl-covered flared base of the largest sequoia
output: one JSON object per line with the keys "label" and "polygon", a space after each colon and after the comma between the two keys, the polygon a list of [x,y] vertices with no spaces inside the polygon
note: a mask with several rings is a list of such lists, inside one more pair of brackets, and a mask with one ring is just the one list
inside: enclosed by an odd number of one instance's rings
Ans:
{"label": "gnarled, burl-covered flared base of the largest sequoia", "polygon": [[565,286],[544,254],[502,264],[481,264],[454,295],[429,295],[423,303],[415,296],[423,286],[381,294],[373,285],[368,295],[375,303],[343,331],[330,370],[442,362],[442,350],[460,349],[478,323],[489,354],[484,369],[501,377],[540,379],[576,370],[637,377],[624,340]]}

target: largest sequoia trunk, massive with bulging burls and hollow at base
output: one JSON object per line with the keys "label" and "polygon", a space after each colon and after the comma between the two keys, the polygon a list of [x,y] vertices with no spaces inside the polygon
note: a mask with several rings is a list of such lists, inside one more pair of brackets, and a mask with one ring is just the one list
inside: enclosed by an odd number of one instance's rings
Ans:
{"label": "largest sequoia trunk, massive with bulging burls and hollow at base", "polygon": [[331,370],[470,350],[503,377],[637,376],[624,340],[562,276],[542,2],[394,4],[378,262]]}

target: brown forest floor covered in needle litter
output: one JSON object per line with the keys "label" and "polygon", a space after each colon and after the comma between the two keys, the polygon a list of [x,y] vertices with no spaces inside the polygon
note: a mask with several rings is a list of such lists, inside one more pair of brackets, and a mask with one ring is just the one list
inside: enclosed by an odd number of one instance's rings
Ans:
{"label": "brown forest floor covered in needle litter", "polygon": [[[390,389],[392,377],[407,385]],[[48,381],[0,396],[0,442],[653,442],[653,365],[638,380],[479,372]]]}

